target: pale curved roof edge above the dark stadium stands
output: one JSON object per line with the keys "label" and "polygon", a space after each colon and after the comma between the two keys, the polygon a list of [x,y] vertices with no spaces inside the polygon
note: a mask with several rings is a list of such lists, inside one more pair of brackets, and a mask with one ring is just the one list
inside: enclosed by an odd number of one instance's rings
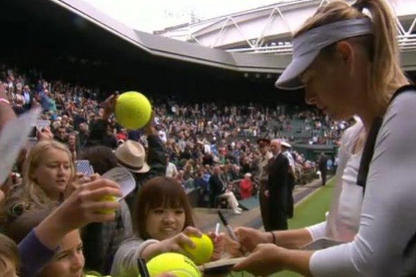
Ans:
{"label": "pale curved roof edge above the dark stadium stands", "polygon": [[[133,30],[82,0],[51,0],[152,55],[242,72],[281,73],[284,57],[254,56],[198,46]],[[36,2],[36,1],[35,1]]]}

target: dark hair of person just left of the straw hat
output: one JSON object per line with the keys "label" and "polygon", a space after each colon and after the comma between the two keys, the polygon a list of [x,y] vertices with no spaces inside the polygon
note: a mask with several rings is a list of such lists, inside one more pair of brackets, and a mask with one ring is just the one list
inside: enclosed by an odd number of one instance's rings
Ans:
{"label": "dark hair of person just left of the straw hat", "polygon": [[118,166],[117,157],[112,149],[102,145],[85,148],[79,155],[79,159],[88,160],[94,168],[94,172],[99,175],[103,175],[108,170]]}

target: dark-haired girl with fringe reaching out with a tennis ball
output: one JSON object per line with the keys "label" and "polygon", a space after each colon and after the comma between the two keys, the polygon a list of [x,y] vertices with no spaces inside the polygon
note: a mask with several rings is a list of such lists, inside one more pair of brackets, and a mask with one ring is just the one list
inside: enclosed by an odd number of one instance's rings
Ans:
{"label": "dark-haired girl with fringe reaching out with a tennis ball", "polygon": [[[136,277],[137,258],[148,261],[168,251],[187,254],[182,246],[194,247],[189,235],[201,235],[195,228],[187,195],[175,179],[155,177],[146,182],[139,191],[135,212],[137,237],[121,244],[114,257],[112,276]],[[209,235],[215,242],[212,259],[216,260],[223,251],[223,234]]]}

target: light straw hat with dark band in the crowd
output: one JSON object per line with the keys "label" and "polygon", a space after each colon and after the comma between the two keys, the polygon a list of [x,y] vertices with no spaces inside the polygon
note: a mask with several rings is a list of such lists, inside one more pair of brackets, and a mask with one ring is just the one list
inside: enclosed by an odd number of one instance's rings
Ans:
{"label": "light straw hat with dark band in the crowd", "polygon": [[145,161],[146,151],[137,141],[125,141],[120,145],[114,154],[120,166],[127,168],[131,172],[146,173],[150,167]]}

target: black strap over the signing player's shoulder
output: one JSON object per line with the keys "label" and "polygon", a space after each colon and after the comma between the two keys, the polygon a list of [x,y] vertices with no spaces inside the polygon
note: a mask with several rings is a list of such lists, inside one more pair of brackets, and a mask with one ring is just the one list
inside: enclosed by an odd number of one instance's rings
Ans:
{"label": "black strap over the signing player's shoulder", "polygon": [[[416,86],[406,85],[397,89],[395,94],[390,99],[390,103],[395,100],[395,98],[404,91],[415,91]],[[357,185],[363,188],[363,194],[365,193],[365,186],[367,186],[367,175],[368,170],[370,169],[370,162],[374,154],[374,145],[376,144],[377,134],[379,134],[379,129],[383,123],[383,118],[377,117],[374,119],[370,132],[368,133],[367,140],[365,141],[363,156],[360,161],[360,168],[358,169]]]}

